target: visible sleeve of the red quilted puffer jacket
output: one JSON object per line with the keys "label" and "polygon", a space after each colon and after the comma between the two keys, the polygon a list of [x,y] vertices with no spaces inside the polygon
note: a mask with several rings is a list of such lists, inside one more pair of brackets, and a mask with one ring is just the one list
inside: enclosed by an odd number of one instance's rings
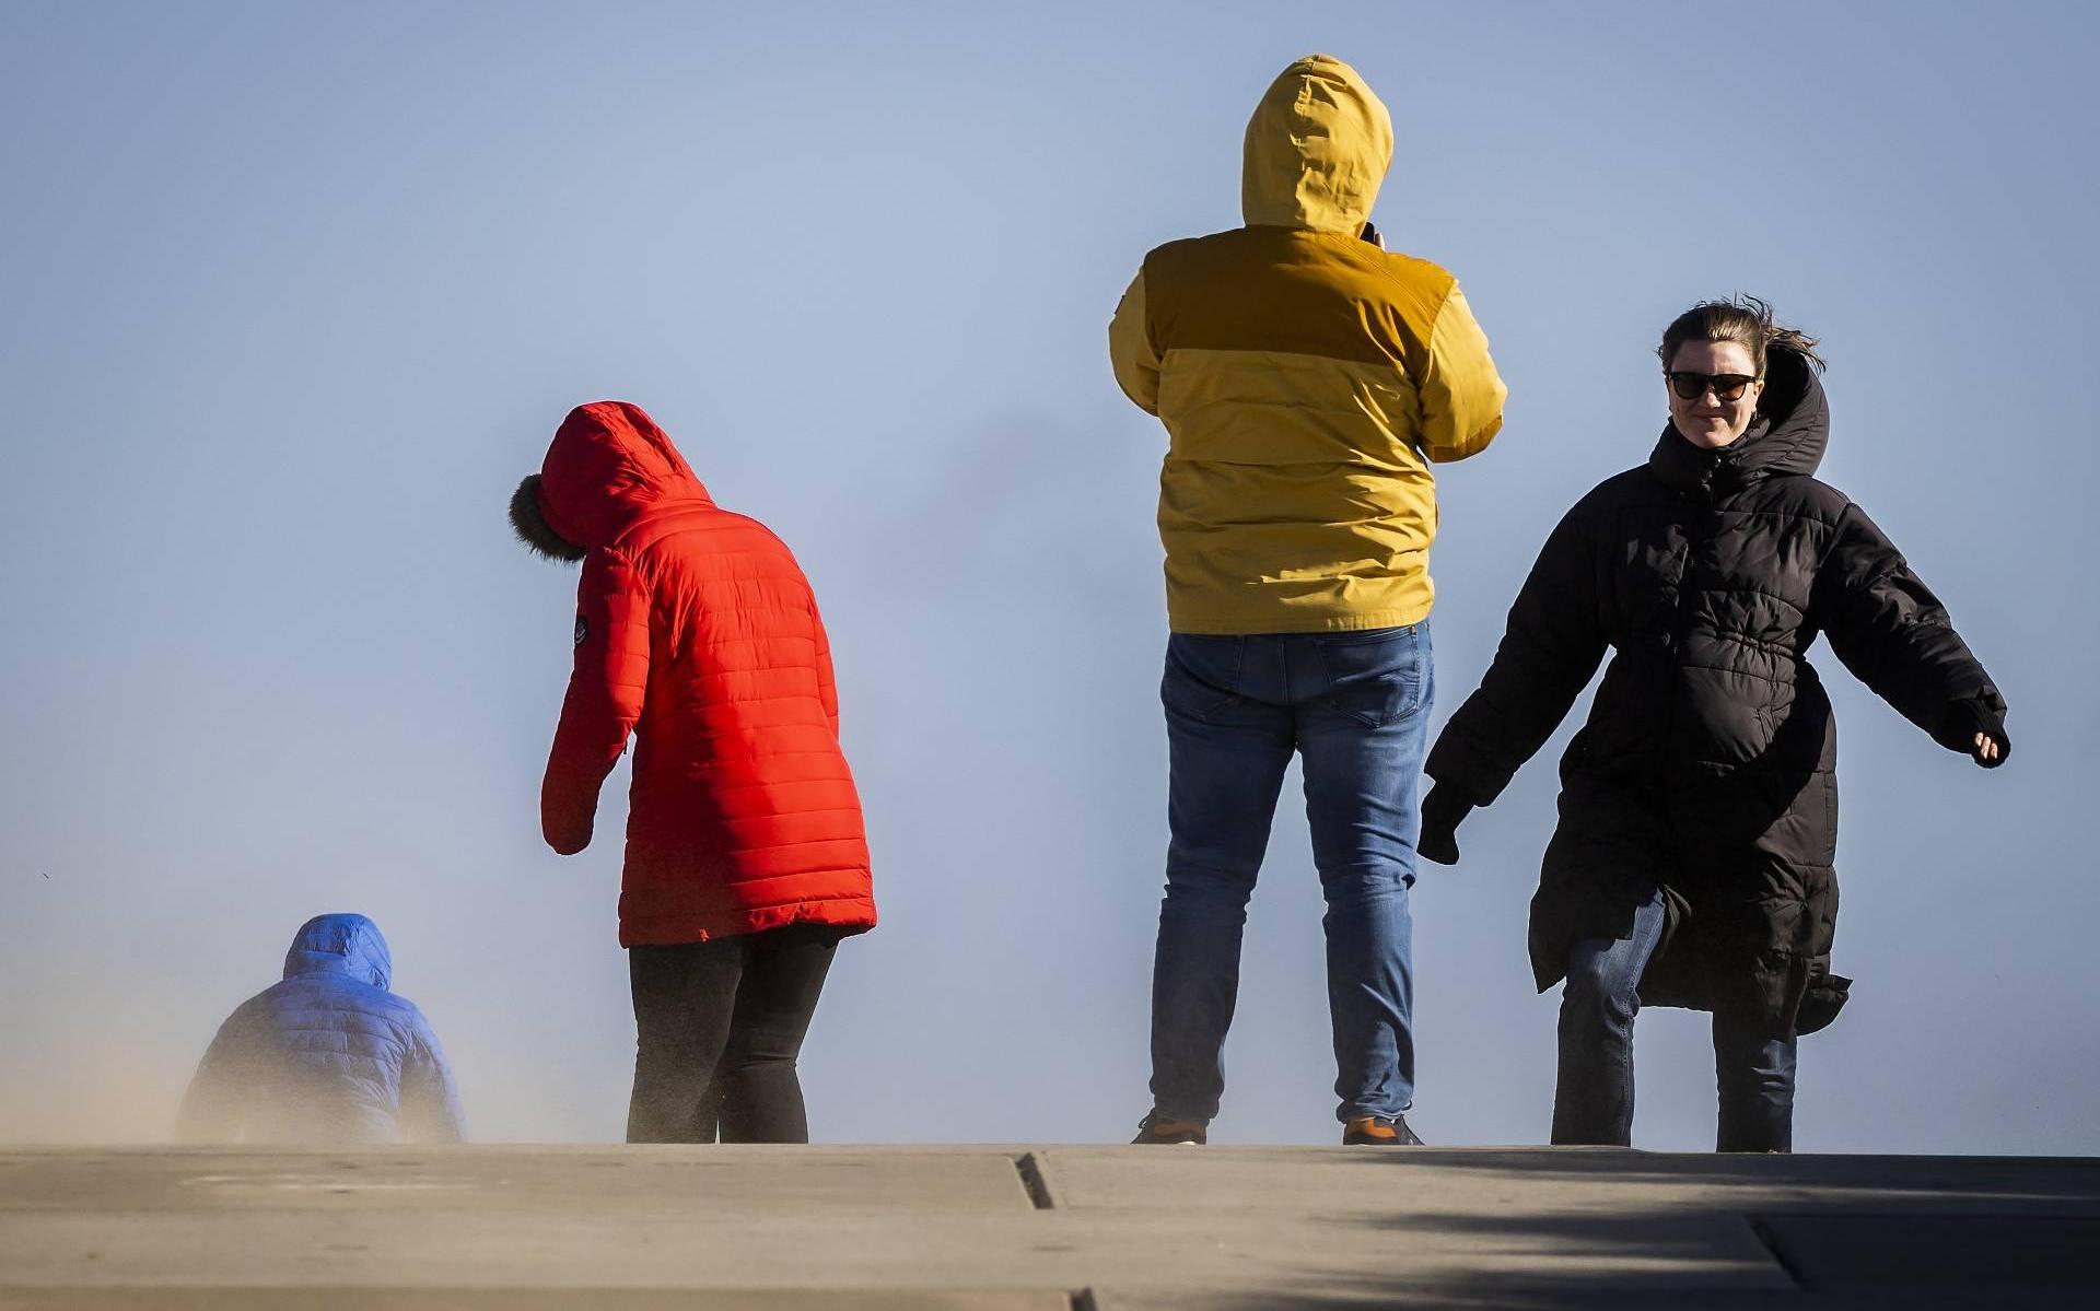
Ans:
{"label": "visible sleeve of the red quilted puffer jacket", "polygon": [[540,786],[540,832],[561,855],[590,845],[598,788],[649,691],[649,592],[634,563],[592,550],[575,597],[575,672]]}

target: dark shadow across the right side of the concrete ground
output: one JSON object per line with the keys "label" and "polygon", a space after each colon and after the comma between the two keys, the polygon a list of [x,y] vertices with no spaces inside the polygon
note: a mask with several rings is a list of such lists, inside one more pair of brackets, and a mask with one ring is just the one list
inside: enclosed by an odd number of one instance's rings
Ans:
{"label": "dark shadow across the right side of the concrete ground", "polygon": [[[1392,1170],[1394,1187],[1407,1187],[1409,1166],[1499,1174],[1512,1195],[1546,1204],[1506,1214],[1331,1216],[1323,1223],[1418,1246],[1449,1244],[1453,1261],[1434,1273],[1392,1277],[1306,1267],[1296,1286],[1214,1294],[1205,1307],[2100,1305],[2100,1160],[1623,1149],[1569,1149],[1548,1160],[1535,1149],[1348,1160],[1363,1170]],[[1586,1187],[1556,1206],[1552,1189],[1539,1187],[1556,1181]],[[1598,1183],[1628,1185],[1628,1202],[1600,1206]],[[1632,1202],[1636,1193],[1646,1202]]]}

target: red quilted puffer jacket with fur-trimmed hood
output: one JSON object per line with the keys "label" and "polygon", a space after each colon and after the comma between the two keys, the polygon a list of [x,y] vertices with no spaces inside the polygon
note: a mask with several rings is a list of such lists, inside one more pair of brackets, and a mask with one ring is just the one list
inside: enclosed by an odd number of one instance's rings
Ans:
{"label": "red quilted puffer jacket with fur-trimmed hood", "polygon": [[598,788],[636,740],[620,943],[874,927],[832,649],[788,546],[716,508],[626,401],[563,420],[512,523],[584,561],[575,674],[540,794],[554,851],[590,845]]}

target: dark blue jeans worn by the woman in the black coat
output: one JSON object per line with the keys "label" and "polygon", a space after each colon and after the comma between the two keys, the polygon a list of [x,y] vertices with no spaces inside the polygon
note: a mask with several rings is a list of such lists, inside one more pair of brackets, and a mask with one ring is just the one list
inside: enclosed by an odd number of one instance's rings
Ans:
{"label": "dark blue jeans worn by the woman in the black coat", "polygon": [[[1632,937],[1596,937],[1569,948],[1554,1088],[1556,1145],[1632,1143],[1638,985],[1663,937],[1665,914],[1663,893],[1655,891],[1634,912]],[[1772,1038],[1756,1017],[1714,1015],[1716,1151],[1793,1151],[1793,1036]]]}

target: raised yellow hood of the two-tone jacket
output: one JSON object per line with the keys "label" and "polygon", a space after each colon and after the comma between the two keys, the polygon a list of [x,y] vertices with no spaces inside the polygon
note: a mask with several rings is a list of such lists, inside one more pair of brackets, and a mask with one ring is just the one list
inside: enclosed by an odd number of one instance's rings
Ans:
{"label": "raised yellow hood of the two-tone jacket", "polygon": [[1239,208],[1250,227],[1357,235],[1392,166],[1392,116],[1331,55],[1306,55],[1268,84],[1247,120]]}

